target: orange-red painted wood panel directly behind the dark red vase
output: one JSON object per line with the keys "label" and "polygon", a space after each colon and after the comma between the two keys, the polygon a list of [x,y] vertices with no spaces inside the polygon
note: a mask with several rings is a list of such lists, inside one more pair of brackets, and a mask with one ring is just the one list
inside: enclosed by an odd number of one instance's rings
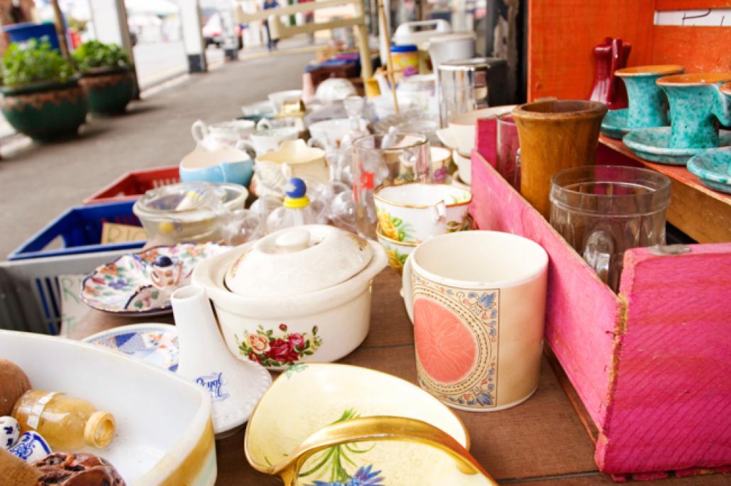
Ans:
{"label": "orange-red painted wood panel directly behind the dark red vase", "polygon": [[651,62],[654,1],[530,0],[528,98],[586,99],[591,50],[606,36],[632,44],[629,66]]}

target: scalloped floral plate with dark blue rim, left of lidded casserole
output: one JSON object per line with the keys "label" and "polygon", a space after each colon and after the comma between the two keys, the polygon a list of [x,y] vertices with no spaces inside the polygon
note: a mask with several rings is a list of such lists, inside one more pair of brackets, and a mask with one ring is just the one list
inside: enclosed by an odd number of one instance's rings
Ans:
{"label": "scalloped floral plate with dark blue rim, left of lidded casserole", "polygon": [[118,315],[168,314],[170,294],[188,284],[194,266],[226,250],[215,243],[178,243],[122,255],[86,277],[80,297],[94,309]]}

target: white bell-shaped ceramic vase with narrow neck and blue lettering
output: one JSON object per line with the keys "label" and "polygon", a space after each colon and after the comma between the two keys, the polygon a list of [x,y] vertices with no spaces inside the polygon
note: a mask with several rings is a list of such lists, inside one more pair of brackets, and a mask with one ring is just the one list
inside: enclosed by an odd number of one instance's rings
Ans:
{"label": "white bell-shaped ceramic vase with narrow neck and blue lettering", "polygon": [[178,327],[178,374],[211,393],[216,438],[235,433],[249,420],[254,405],[271,385],[271,375],[260,364],[231,354],[203,288],[179,288],[170,302]]}

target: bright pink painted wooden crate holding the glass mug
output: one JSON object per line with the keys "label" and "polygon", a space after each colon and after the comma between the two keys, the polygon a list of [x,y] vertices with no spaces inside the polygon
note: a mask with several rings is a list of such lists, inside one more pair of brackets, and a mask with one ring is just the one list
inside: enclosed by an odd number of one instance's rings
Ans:
{"label": "bright pink painted wooden crate holding the glass mug", "polygon": [[599,429],[599,469],[616,479],[730,470],[731,243],[629,250],[617,295],[477,150],[472,190],[481,229],[550,255],[545,337]]}

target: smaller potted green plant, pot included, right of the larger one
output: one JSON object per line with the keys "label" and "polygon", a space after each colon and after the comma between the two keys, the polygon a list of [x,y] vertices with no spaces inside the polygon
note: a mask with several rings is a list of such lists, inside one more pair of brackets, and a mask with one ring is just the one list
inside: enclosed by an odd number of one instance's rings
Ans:
{"label": "smaller potted green plant, pot included, right of the larger one", "polygon": [[92,40],[72,54],[83,73],[79,84],[94,115],[118,115],[135,96],[135,77],[122,47]]}

